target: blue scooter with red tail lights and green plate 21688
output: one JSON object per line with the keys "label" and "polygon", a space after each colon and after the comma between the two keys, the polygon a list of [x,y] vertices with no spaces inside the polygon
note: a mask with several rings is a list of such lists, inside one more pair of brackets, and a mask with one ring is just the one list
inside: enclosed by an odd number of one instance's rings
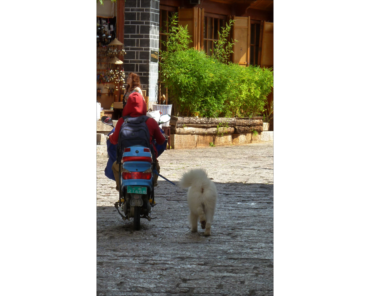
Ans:
{"label": "blue scooter with red tail lights and green plate 21688", "polygon": [[[169,114],[162,115],[158,120],[158,124],[168,122],[170,119],[171,116]],[[110,117],[103,116],[101,121],[114,128],[113,121]],[[109,152],[112,152],[112,149],[109,151],[110,147],[108,147],[108,142],[109,140],[107,141],[108,155],[111,157],[112,155],[110,155]],[[159,151],[162,153],[165,145],[167,145],[167,139],[164,144],[157,146],[155,143],[155,145],[159,156]],[[113,162],[111,162],[111,164],[113,164]],[[139,230],[141,218],[145,218],[148,221],[154,219],[151,218],[151,212],[152,207],[156,205],[153,186],[153,177],[155,172],[157,172],[155,156],[149,147],[140,145],[125,147],[123,149],[121,164],[119,200],[114,206],[123,220],[133,218],[134,229]],[[107,165],[107,168],[108,166],[109,165]]]}

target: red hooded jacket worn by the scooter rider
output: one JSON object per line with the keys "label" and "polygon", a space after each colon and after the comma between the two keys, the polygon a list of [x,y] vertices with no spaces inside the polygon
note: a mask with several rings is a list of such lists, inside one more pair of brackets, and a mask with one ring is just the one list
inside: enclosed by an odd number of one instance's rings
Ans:
{"label": "red hooded jacket worn by the scooter rider", "polygon": [[[138,92],[132,92],[132,94],[128,96],[127,104],[122,110],[122,116],[128,115],[129,117],[138,117],[146,114],[147,114],[147,104],[145,103],[144,98]],[[118,135],[120,134],[121,125],[123,122],[124,120],[121,117],[118,120],[117,125],[115,126],[114,133],[109,137],[109,140],[111,141],[112,144],[118,143]],[[155,141],[157,141],[159,145],[162,145],[166,138],[163,137],[157,121],[155,121],[154,118],[148,118],[148,120],[145,123],[147,124],[147,127],[149,129],[150,135],[149,143],[153,144],[153,139],[155,139]],[[158,157],[157,149],[155,149],[155,145],[153,145],[153,147],[155,157],[157,158]]]}

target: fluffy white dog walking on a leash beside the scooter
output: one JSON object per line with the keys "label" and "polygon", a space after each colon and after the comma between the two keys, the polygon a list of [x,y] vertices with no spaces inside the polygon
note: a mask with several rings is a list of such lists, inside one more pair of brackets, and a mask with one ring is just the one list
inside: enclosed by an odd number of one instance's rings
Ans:
{"label": "fluffy white dog walking on a leash beside the scooter", "polygon": [[188,190],[189,222],[192,232],[198,231],[198,218],[204,235],[211,235],[211,224],[217,202],[216,185],[208,178],[204,169],[192,169],[184,175],[179,183]]}

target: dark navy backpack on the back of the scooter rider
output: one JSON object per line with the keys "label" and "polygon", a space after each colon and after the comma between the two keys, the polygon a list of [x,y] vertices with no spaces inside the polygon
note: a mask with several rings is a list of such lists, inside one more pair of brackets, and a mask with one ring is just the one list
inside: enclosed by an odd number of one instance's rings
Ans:
{"label": "dark navy backpack on the back of the scooter rider", "polygon": [[125,116],[123,118],[124,122],[121,125],[120,134],[118,135],[117,161],[121,161],[123,150],[126,147],[141,145],[151,148],[152,151],[152,147],[149,144],[149,129],[146,124],[148,118],[146,115],[139,117]]}

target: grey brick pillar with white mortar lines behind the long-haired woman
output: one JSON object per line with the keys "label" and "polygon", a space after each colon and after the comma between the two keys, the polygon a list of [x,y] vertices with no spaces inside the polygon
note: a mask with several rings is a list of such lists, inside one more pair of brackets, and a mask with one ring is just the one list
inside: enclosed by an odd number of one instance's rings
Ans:
{"label": "grey brick pillar with white mortar lines behind the long-haired woman", "polygon": [[141,89],[155,104],[158,62],[150,61],[150,51],[159,49],[159,0],[126,0],[124,46],[126,77],[131,72],[139,74]]}

